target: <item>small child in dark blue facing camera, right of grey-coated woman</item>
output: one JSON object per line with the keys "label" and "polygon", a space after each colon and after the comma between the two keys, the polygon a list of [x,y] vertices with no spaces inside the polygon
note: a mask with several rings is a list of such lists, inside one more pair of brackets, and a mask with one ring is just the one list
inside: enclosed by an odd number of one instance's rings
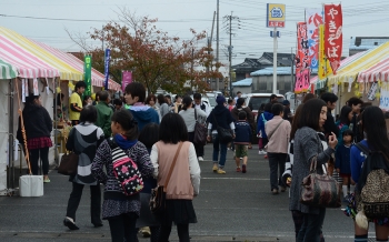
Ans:
{"label": "small child in dark blue facing camera, right of grey-coated woman", "polygon": [[335,169],[342,178],[342,191],[343,191],[343,201],[347,202],[348,198],[348,186],[350,185],[350,194],[353,193],[356,185],[351,181],[351,169],[350,169],[350,150],[353,141],[352,130],[345,130],[341,133],[342,144],[338,144],[337,151],[335,153]]}

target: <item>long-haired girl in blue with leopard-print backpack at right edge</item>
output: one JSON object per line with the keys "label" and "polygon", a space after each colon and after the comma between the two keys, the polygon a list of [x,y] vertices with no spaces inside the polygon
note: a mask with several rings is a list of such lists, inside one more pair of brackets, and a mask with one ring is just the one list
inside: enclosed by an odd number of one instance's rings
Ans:
{"label": "long-haired girl in blue with leopard-print backpack at right edge", "polygon": [[351,148],[351,178],[357,188],[345,213],[356,220],[355,241],[368,241],[369,222],[375,223],[376,241],[388,241],[389,140],[386,121],[378,107],[366,108],[361,115],[366,139]]}

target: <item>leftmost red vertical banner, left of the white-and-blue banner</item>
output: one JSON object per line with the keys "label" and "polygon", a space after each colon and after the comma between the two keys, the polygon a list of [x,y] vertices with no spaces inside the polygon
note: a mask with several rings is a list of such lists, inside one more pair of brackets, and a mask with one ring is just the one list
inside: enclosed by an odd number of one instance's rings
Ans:
{"label": "leftmost red vertical banner, left of the white-and-blue banner", "polygon": [[297,23],[296,73],[310,67],[307,23]]}

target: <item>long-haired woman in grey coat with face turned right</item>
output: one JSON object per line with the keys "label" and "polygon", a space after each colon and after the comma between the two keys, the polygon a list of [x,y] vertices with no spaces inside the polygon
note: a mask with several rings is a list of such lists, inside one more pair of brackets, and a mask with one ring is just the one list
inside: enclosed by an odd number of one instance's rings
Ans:
{"label": "long-haired woman in grey coat with face turned right", "polygon": [[318,173],[323,173],[320,168],[333,154],[338,141],[336,134],[332,133],[329,137],[328,148],[323,149],[317,133],[322,130],[327,120],[326,102],[320,99],[309,100],[301,108],[301,113],[303,115],[297,120],[298,130],[295,133],[293,179],[291,180],[289,210],[303,214],[297,241],[319,242],[326,209],[300,203],[301,182],[310,173],[310,165],[315,159],[319,168]]}

